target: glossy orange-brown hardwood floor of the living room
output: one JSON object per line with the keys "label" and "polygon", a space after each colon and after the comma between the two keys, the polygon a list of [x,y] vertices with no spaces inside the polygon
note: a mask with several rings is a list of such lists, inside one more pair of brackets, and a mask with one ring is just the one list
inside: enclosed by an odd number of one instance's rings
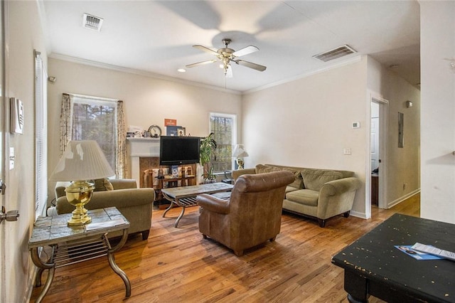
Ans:
{"label": "glossy orange-brown hardwood floor of the living room", "polygon": [[[284,213],[274,243],[242,257],[198,231],[198,208],[188,208],[174,228],[179,208],[161,218],[154,211],[149,239],[137,235],[115,254],[127,273],[132,296],[98,258],[55,270],[43,302],[343,302],[343,270],[331,256],[393,213],[419,216],[416,194],[389,210],[373,208],[373,218],[339,216],[319,228],[315,220]],[[45,274],[43,275],[43,282]],[[33,289],[35,302],[41,287]],[[371,298],[370,302],[382,302]]]}

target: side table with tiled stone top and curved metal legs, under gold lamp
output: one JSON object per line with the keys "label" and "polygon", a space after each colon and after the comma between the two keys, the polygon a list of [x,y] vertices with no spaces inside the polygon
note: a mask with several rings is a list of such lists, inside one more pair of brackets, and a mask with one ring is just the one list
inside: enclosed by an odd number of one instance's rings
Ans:
{"label": "side table with tiled stone top and curved metal legs, under gold lamp", "polygon": [[[41,286],[41,276],[48,270],[48,278],[36,302],[41,302],[50,288],[55,274],[55,268],[63,267],[95,257],[107,255],[109,265],[119,275],[125,285],[125,297],[131,296],[131,284],[127,275],[114,260],[117,252],[127,242],[129,222],[117,208],[100,208],[88,211],[92,223],[80,226],[68,226],[71,213],[51,217],[38,217],[33,225],[33,232],[28,240],[33,264],[38,267],[35,286]],[[112,247],[107,234],[122,230],[122,239]],[[47,261],[43,262],[38,255],[38,248],[49,246],[52,252]]]}

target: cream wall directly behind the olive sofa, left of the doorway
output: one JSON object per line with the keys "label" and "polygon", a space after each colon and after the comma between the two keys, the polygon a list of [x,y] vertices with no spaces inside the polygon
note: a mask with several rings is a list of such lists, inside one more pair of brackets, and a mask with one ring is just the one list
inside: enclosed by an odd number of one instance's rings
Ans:
{"label": "cream wall directly behind the olive sofa, left of the doorway", "polygon": [[[245,167],[281,164],[355,171],[365,184],[367,60],[244,96]],[[369,119],[369,118],[368,118]],[[369,132],[369,130],[368,130]],[[343,149],[350,148],[350,156]],[[365,213],[365,187],[353,210]]]}

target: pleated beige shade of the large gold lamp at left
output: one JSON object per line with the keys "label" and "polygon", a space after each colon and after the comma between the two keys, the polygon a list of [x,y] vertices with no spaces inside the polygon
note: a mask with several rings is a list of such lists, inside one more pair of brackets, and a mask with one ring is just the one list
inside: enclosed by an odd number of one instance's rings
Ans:
{"label": "pleated beige shade of the large gold lamp at left", "polygon": [[49,180],[92,180],[114,174],[96,141],[70,141]]}

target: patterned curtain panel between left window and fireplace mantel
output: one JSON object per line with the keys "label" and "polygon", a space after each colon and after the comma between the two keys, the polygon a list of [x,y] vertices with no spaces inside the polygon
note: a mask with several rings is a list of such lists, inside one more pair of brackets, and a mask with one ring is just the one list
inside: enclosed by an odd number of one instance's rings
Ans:
{"label": "patterned curtain panel between left window and fireplace mantel", "polygon": [[118,179],[128,176],[127,167],[127,131],[125,130],[125,116],[123,112],[123,101],[117,101],[117,163],[115,174]]}

